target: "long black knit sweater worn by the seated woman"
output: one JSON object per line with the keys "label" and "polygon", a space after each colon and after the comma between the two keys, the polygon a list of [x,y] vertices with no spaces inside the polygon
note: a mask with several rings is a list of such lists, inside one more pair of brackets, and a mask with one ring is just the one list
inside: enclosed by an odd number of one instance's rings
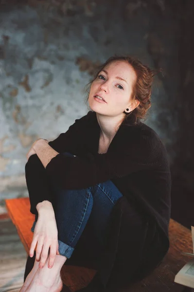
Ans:
{"label": "long black knit sweater worn by the seated woman", "polygon": [[[114,282],[115,276],[112,274],[117,275],[117,280],[122,281],[124,276],[125,278],[128,276],[121,272],[119,264],[121,260],[123,271],[128,269],[129,274],[131,272],[127,261],[128,263],[132,261],[132,265],[133,260],[141,263],[142,253],[138,258],[134,257],[138,244],[133,242],[132,245],[130,239],[131,233],[135,237],[134,230],[137,230],[134,229],[135,223],[132,226],[133,222],[130,219],[131,206],[139,212],[140,217],[144,216],[150,222],[155,222],[160,234],[158,245],[160,256],[157,259],[156,255],[153,255],[152,264],[150,258],[150,267],[147,262],[144,269],[148,271],[149,268],[155,267],[166,254],[169,247],[171,176],[166,150],[156,132],[145,124],[122,125],[105,154],[98,153],[99,138],[100,127],[96,113],[89,111],[86,116],[75,120],[66,133],[49,142],[59,154],[46,168],[37,155],[32,155],[25,166],[25,172],[31,202],[30,211],[36,215],[36,219],[37,203],[44,200],[52,201],[50,180],[67,189],[87,188],[111,180],[122,192],[123,197],[118,200],[112,212],[110,246],[103,256],[102,269],[92,280],[93,285],[94,283],[95,287],[100,285],[100,291],[103,291],[110,281]],[[77,157],[67,157],[62,154],[63,152],[70,152]],[[136,238],[141,240],[138,237],[137,231]],[[124,242],[123,247],[119,242]],[[129,276],[130,281],[132,279]],[[89,285],[82,291],[94,291],[94,286]]]}

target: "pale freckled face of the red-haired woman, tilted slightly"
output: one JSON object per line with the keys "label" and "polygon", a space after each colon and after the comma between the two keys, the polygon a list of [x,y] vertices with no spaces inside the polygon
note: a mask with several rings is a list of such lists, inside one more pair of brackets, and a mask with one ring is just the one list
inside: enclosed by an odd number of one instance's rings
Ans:
{"label": "pale freckled face of the red-haired woman, tilted slightly", "polygon": [[124,110],[128,108],[130,112],[137,106],[132,105],[130,98],[136,78],[133,67],[125,61],[107,65],[91,84],[88,97],[90,109],[106,116],[123,117]]}

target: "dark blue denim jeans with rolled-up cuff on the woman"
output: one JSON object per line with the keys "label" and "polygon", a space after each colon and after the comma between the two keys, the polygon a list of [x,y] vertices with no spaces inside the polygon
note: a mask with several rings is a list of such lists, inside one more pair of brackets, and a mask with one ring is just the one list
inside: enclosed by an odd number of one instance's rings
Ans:
{"label": "dark blue denim jeans with rolled-up cuff on the woman", "polygon": [[[65,152],[64,155],[73,156]],[[86,189],[60,189],[53,184],[53,209],[58,230],[59,253],[70,258],[88,219],[92,237],[99,248],[106,244],[110,214],[123,195],[112,181],[97,183]],[[36,221],[31,231],[34,232]],[[87,252],[87,251],[86,251]]]}

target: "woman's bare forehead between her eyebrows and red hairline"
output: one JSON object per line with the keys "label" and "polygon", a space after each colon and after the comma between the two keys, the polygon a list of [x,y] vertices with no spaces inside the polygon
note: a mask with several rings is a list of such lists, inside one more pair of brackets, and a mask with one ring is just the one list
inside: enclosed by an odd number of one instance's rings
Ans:
{"label": "woman's bare forehead between her eyebrows and red hairline", "polygon": [[107,71],[108,74],[113,74],[115,76],[120,76],[126,81],[131,80],[131,78],[134,80],[136,79],[136,73],[133,67],[125,62],[125,61],[115,61],[110,64],[108,64],[104,70]]}

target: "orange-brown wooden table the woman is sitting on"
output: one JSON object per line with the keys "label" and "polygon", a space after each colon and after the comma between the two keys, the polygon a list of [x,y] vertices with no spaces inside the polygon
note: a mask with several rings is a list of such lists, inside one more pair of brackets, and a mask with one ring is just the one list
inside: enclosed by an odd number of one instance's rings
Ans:
{"label": "orange-brown wooden table the woman is sitting on", "polygon": [[[33,239],[31,227],[35,219],[30,213],[29,198],[8,199],[5,203],[24,248],[29,254]],[[159,267],[140,282],[131,285],[127,291],[121,289],[118,292],[194,292],[193,289],[174,282],[177,272],[191,259],[189,256],[181,255],[181,252],[193,252],[191,230],[171,219],[169,237],[170,248]],[[95,273],[95,270],[65,264],[61,270],[62,281],[72,292],[87,286]]]}

